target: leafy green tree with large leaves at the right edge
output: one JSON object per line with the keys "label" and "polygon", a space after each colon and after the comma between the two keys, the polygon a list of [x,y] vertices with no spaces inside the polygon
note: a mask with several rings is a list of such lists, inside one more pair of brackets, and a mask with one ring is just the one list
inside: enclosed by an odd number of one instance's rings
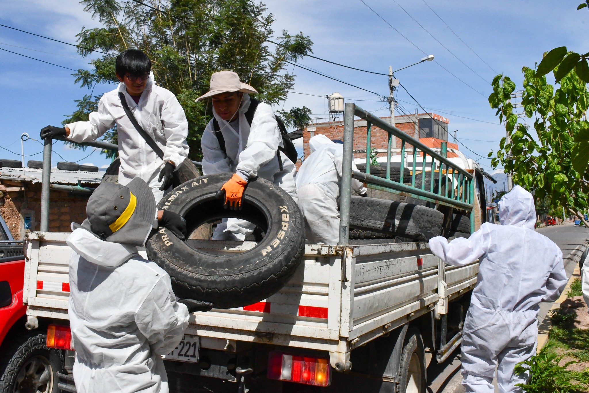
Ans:
{"label": "leafy green tree with large leaves at the right edge", "polygon": [[[587,4],[589,0],[578,9]],[[522,68],[521,103],[525,116],[534,119],[537,139],[525,124],[518,123],[510,101],[516,86],[509,77],[497,75],[489,95],[489,104],[497,109],[508,135],[499,143],[492,166],[501,164],[512,173],[514,183],[532,190],[537,200],[547,199],[552,208],[565,206],[580,219],[589,206],[588,58],[589,53],[580,55],[560,47],[545,53],[537,68]],[[550,71],[557,86],[547,82],[545,75]]]}

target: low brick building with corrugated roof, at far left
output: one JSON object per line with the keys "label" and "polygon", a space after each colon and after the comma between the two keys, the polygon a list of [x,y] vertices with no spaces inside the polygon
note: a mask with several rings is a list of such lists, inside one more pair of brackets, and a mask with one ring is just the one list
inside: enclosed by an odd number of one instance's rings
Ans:
{"label": "low brick building with corrugated roof, at far left", "polygon": [[[51,170],[51,183],[67,186],[97,187],[104,172]],[[41,177],[38,169],[0,169],[0,215],[15,239],[40,230]],[[72,222],[86,219],[86,202],[90,194],[51,190],[49,196],[49,230],[71,232]]]}

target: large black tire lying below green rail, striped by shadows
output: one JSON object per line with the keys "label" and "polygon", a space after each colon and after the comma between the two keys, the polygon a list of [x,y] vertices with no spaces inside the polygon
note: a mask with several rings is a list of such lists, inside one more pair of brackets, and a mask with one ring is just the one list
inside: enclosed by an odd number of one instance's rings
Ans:
{"label": "large black tire lying below green rail, striped by shadows", "polygon": [[427,242],[442,233],[444,214],[426,206],[352,196],[350,230],[362,229]]}

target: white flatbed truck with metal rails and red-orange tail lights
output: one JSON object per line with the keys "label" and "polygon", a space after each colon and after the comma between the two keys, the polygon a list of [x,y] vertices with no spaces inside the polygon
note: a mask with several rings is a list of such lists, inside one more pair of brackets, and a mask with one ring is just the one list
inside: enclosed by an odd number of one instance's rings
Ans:
{"label": "white flatbed truck with metal rails and red-orange tail lights", "polygon": [[[366,136],[360,136],[368,147],[366,173],[352,172],[355,115],[368,122]],[[389,133],[385,177],[370,174],[372,126]],[[403,157],[413,154],[411,183],[403,181],[403,168],[401,179],[391,180],[395,137],[401,140]],[[62,351],[64,359],[59,387],[73,391],[74,348],[67,326],[71,250],[65,244],[67,233],[47,232],[50,149],[46,140],[45,215],[42,231],[27,238],[24,302],[29,329],[37,328],[39,319],[51,323],[48,346]],[[444,148],[438,154],[353,103],[345,107],[343,151],[339,243],[305,245],[294,276],[261,302],[193,313],[184,341],[164,356],[172,390],[191,391],[199,384],[215,391],[217,382],[230,381],[237,382],[230,387],[241,391],[280,391],[297,382],[314,385],[317,391],[425,392],[426,348],[444,361],[458,347],[478,263],[445,266],[426,242],[391,239],[350,245],[350,183],[353,177],[371,189],[411,197],[444,210],[445,216],[469,215],[473,232],[485,219],[477,212],[477,169],[457,166],[444,157]],[[423,160],[421,171],[416,170],[418,157]],[[419,177],[421,182],[416,182]],[[255,242],[187,242],[211,253],[256,247]]]}

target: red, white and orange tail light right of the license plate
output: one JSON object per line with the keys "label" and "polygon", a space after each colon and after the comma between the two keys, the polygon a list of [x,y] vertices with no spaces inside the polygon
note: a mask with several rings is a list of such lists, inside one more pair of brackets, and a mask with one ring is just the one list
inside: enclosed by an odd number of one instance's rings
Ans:
{"label": "red, white and orange tail light right of the license plate", "polygon": [[329,386],[331,383],[331,367],[327,359],[270,352],[267,376],[270,379],[278,379],[279,381]]}

